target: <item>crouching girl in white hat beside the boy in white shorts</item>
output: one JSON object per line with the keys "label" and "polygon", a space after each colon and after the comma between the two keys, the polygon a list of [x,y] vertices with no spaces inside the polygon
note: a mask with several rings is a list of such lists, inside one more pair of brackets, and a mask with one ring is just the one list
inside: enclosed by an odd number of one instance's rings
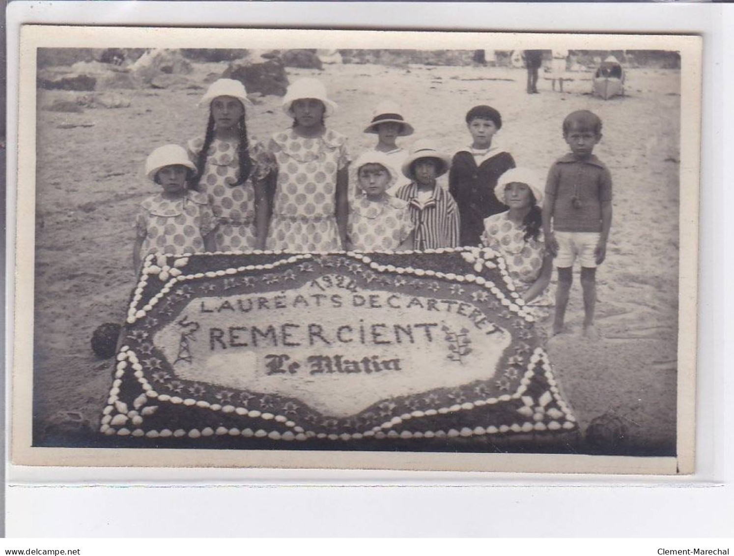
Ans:
{"label": "crouching girl in white hat beside the boy in white shorts", "polygon": [[553,304],[548,292],[553,258],[545,250],[541,182],[532,170],[513,168],[499,178],[495,195],[509,210],[484,220],[482,243],[501,253],[517,293],[538,318]]}

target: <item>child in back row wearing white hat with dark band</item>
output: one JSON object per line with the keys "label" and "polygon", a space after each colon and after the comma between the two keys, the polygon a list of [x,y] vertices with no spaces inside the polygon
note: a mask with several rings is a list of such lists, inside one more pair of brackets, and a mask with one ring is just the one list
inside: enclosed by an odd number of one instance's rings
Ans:
{"label": "child in back row wearing white hat with dark band", "polygon": [[413,126],[407,123],[402,116],[401,107],[393,101],[382,101],[372,112],[372,121],[365,128],[365,133],[377,134],[377,145],[374,151],[385,154],[385,160],[395,168],[397,176],[388,192],[393,194],[404,185],[410,184],[405,176],[398,175],[398,171],[405,162],[407,150],[397,145],[398,137],[413,135]]}

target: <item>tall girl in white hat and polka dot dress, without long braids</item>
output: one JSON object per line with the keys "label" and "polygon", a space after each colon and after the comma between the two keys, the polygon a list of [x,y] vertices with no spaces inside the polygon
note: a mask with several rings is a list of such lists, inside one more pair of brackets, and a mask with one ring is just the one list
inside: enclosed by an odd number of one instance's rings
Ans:
{"label": "tall girl in white hat and polka dot dress, without long braids", "polygon": [[269,142],[278,172],[268,249],[335,251],[346,245],[346,137],[324,126],[335,109],[318,79],[288,87],[283,110],[294,118],[293,127]]}

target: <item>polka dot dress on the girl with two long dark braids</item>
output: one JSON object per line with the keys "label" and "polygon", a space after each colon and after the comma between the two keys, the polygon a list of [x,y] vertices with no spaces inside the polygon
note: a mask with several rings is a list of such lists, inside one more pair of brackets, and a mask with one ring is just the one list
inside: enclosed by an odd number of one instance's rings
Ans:
{"label": "polka dot dress on the girl with two long dark braids", "polygon": [[[204,138],[186,145],[189,158],[196,162]],[[209,145],[206,165],[199,189],[206,193],[219,226],[214,237],[219,251],[251,250],[256,247],[255,187],[252,180],[263,179],[274,166],[264,148],[250,141],[253,165],[244,184],[234,185],[239,179],[239,144],[236,141],[214,139]]]}

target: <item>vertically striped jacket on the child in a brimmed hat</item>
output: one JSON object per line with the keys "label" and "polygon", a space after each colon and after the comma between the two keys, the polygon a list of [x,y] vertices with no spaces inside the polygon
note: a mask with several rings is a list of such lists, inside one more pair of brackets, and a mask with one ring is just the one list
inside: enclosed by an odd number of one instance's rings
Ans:
{"label": "vertically striped jacket on the child in a brimmed hat", "polygon": [[408,203],[416,250],[459,246],[459,207],[451,193],[436,185],[433,195],[421,202],[418,184],[413,181],[398,189],[395,196]]}

